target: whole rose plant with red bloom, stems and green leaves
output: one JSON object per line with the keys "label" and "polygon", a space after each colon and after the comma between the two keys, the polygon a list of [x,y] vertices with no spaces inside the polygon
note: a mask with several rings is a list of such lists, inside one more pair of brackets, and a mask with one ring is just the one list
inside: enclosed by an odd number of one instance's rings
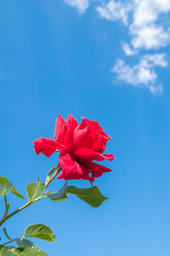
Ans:
{"label": "whole rose plant with red bloom, stems and green leaves", "polygon": [[[113,154],[103,154],[106,143],[110,139],[111,137],[105,134],[103,128],[96,121],[82,118],[81,124],[78,125],[77,120],[71,114],[66,121],[59,115],[55,123],[54,139],[41,137],[33,142],[36,154],[42,153],[49,157],[54,152],[59,152],[59,162],[48,172],[45,183],[38,180],[36,183],[27,184],[28,202],[23,207],[8,213],[7,194],[11,192],[20,198],[24,199],[24,197],[14,188],[12,183],[9,183],[6,177],[0,177],[0,196],[4,197],[5,202],[5,213],[0,221],[0,226],[8,218],[43,198],[49,198],[52,201],[65,201],[67,195],[72,194],[77,195],[91,207],[99,207],[107,198],[100,193],[98,187],[93,185],[94,178],[102,176],[104,172],[111,172],[111,169],[94,161],[114,159]],[[80,189],[75,186],[68,186],[68,182],[65,182],[59,191],[47,191],[49,184],[55,177],[63,178],[65,181],[88,180],[91,186],[87,189]],[[38,249],[26,237],[54,241],[54,233],[44,224],[30,225],[26,228],[24,236],[16,239],[10,238],[4,228],[3,231],[8,241],[0,246],[0,255],[45,256],[48,254]],[[9,243],[15,243],[18,247],[8,247]]]}

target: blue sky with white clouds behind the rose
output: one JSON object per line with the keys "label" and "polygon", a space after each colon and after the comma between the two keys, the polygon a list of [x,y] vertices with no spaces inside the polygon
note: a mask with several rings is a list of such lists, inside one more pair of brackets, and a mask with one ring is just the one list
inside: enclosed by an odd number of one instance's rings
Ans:
{"label": "blue sky with white clouds behind the rose", "polygon": [[[59,113],[99,121],[116,155],[95,180],[109,197],[101,207],[39,201],[5,224],[10,236],[40,222],[57,236],[35,240],[50,256],[169,256],[169,11],[168,0],[0,3],[1,176],[24,195],[46,176],[57,154],[31,143],[53,137]],[[11,211],[22,205],[10,200]]]}

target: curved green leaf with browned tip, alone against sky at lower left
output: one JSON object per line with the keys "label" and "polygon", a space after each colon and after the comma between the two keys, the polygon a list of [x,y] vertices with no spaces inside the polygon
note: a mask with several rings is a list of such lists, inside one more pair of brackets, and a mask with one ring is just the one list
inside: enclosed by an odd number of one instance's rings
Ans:
{"label": "curved green leaf with browned tip, alone against sky at lower left", "polygon": [[25,237],[35,237],[46,241],[54,241],[54,233],[44,224],[32,224],[24,232]]}

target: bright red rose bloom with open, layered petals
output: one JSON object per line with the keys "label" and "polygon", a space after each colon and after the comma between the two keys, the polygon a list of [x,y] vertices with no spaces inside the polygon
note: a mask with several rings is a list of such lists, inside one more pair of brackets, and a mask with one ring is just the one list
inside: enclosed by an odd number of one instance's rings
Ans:
{"label": "bright red rose bloom with open, layered petals", "polygon": [[[56,139],[56,140],[54,140]],[[102,176],[111,169],[93,160],[113,160],[113,154],[102,154],[108,137],[96,121],[82,118],[82,123],[69,114],[66,121],[59,115],[56,119],[54,139],[41,137],[34,141],[36,154],[50,156],[59,150],[59,165],[62,171],[58,178],[65,180],[86,179],[94,182],[94,177]]]}

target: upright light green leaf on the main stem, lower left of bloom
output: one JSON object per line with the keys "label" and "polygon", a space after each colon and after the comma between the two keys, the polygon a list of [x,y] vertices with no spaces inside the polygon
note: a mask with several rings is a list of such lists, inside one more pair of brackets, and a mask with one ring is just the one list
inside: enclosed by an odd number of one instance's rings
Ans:
{"label": "upright light green leaf on the main stem, lower left of bloom", "polygon": [[45,190],[44,183],[38,182],[38,183],[29,183],[26,186],[26,193],[28,195],[29,201],[34,201],[42,195],[43,191]]}

